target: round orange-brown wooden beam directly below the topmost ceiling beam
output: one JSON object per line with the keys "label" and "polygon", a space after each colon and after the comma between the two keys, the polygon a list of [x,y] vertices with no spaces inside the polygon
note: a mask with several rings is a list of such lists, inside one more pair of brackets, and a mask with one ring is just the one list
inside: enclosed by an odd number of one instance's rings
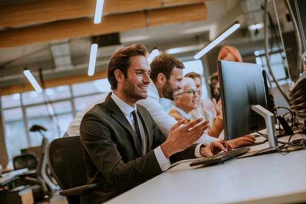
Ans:
{"label": "round orange-brown wooden beam directly below the topmost ceiling beam", "polygon": [[102,17],[102,22],[99,24],[94,24],[92,18],[44,23],[0,31],[0,48],[102,35],[170,23],[200,21],[206,17],[205,4],[197,3],[107,15]]}

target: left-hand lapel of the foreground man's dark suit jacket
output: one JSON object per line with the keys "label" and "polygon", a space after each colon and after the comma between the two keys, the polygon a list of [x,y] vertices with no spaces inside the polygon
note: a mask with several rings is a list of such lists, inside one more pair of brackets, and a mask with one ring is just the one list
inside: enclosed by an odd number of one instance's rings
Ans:
{"label": "left-hand lapel of the foreground man's dark suit jacket", "polygon": [[111,95],[111,93],[109,93],[109,95],[105,99],[105,103],[106,103],[106,106],[107,106],[109,112],[112,112],[111,117],[113,117],[115,120],[117,120],[117,122],[119,124],[124,126],[130,132],[130,134],[133,138],[133,141],[134,141],[134,146],[136,148],[136,151],[139,154],[139,156],[142,156],[143,153],[142,153],[142,150],[141,150],[140,144],[138,142],[135,131],[131,127],[131,124],[127,120],[126,116],[122,113],[122,111],[119,109],[117,104],[112,100],[110,95]]}

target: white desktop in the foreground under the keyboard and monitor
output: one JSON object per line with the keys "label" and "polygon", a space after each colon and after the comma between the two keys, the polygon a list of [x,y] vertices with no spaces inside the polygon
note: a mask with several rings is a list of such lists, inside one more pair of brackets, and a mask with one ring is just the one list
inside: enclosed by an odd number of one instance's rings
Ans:
{"label": "white desktop in the foreground under the keyboard and monitor", "polygon": [[[254,150],[268,147],[267,143]],[[252,151],[252,149],[251,149]],[[181,163],[107,204],[292,204],[306,202],[306,150],[224,164]]]}

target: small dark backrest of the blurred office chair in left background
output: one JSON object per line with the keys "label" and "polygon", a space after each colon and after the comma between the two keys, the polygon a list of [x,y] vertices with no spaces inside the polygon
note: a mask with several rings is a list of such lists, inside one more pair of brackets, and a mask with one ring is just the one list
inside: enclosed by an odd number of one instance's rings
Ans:
{"label": "small dark backrest of the blurred office chair in left background", "polygon": [[23,168],[28,168],[29,170],[36,169],[37,163],[38,161],[36,155],[29,152],[16,156],[13,159],[13,166],[15,170]]}

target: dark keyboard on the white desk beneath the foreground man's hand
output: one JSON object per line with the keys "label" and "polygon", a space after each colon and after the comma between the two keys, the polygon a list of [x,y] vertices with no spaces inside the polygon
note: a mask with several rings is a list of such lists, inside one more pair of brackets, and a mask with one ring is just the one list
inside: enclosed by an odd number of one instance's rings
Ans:
{"label": "dark keyboard on the white desk beneath the foreground man's hand", "polygon": [[195,161],[192,161],[189,165],[190,166],[196,166],[200,164],[208,164],[208,163],[216,163],[216,162],[222,162],[226,159],[231,159],[233,157],[242,155],[248,151],[250,151],[251,148],[249,147],[242,147],[242,148],[237,148],[233,149],[227,152],[221,152],[219,154],[210,156],[210,157],[204,157]]}

